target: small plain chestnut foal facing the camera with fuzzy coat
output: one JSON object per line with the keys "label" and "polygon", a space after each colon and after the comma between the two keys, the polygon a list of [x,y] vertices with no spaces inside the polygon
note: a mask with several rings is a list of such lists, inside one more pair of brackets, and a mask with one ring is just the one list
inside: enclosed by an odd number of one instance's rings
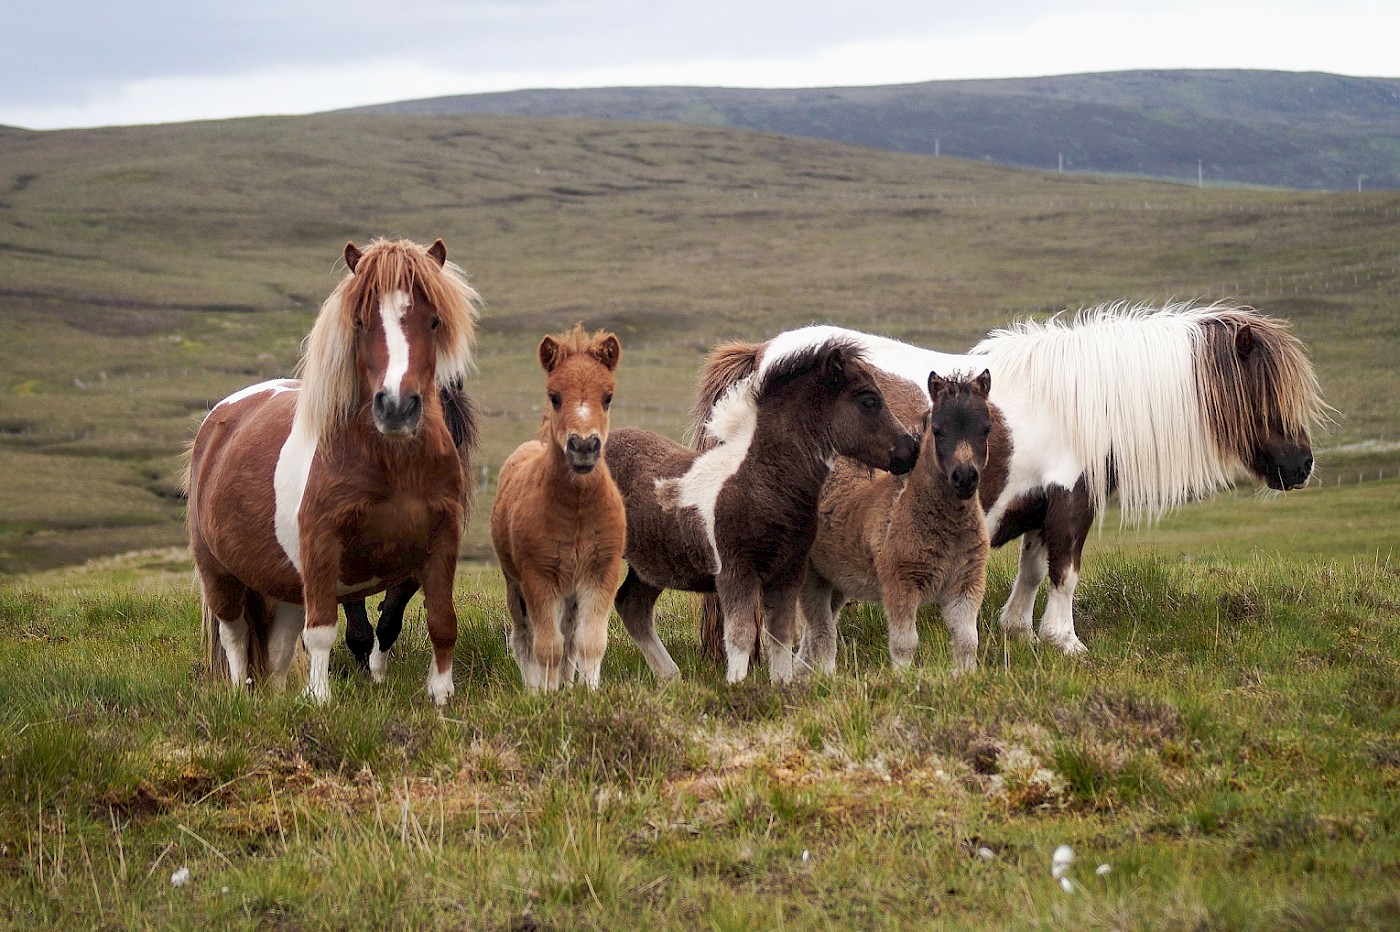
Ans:
{"label": "small plain chestnut foal facing the camera with fuzzy coat", "polygon": [[627,540],[622,495],[603,451],[622,346],[582,326],[539,344],[549,409],[539,438],[501,465],[491,544],[505,577],[511,652],[531,690],[575,673],[596,689],[608,613]]}

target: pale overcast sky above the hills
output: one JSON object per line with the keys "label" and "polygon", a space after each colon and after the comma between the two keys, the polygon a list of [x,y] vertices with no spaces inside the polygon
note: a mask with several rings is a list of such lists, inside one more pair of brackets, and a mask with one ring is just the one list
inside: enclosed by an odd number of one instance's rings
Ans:
{"label": "pale overcast sky above the hills", "polygon": [[1396,0],[0,0],[0,123],[535,87],[841,87],[1126,69],[1400,77]]}

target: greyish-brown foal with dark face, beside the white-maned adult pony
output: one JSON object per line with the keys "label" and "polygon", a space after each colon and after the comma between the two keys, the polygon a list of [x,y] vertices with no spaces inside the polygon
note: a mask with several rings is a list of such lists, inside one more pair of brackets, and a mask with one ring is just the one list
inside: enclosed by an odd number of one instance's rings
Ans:
{"label": "greyish-brown foal with dark face, beside the white-maned adult pony", "polygon": [[[918,407],[920,388],[906,382]],[[977,612],[987,582],[987,529],[977,487],[1000,413],[991,374],[928,374],[918,465],[903,480],[839,460],[822,488],[816,542],[802,584],[804,669],[836,668],[836,616],[847,599],[883,602],[889,656],[907,668],[918,647],[920,606],[938,602],[952,635],[953,673],[977,666]],[[886,389],[893,407],[896,402]]]}

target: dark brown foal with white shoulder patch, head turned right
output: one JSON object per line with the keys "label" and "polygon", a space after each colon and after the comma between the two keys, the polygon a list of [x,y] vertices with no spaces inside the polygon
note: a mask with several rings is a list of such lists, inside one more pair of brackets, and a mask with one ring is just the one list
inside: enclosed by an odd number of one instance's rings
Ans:
{"label": "dark brown foal with white shoulder patch, head turned right", "polygon": [[627,505],[627,577],[617,613],[658,679],[679,672],[657,640],[664,589],[715,592],[725,607],[728,680],[742,680],[757,631],[770,676],[792,679],[797,598],[816,536],[816,500],[837,455],[907,473],[917,442],[844,340],[826,340],[735,383],[715,404],[717,445],[697,453],[650,431],[613,434],[606,459]]}

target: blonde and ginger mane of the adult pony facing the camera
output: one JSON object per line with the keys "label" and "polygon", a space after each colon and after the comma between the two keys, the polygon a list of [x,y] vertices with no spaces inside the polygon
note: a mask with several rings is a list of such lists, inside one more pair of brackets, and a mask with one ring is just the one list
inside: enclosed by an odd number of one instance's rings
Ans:
{"label": "blonde and ginger mane of the adult pony facing the camera", "polygon": [[321,305],[302,343],[297,375],[302,379],[294,430],[312,437],[332,432],[360,404],[356,378],[356,320],[378,311],[379,297],[421,288],[438,311],[437,385],[448,388],[472,364],[480,297],[456,264],[442,266],[424,246],[407,239],[374,239],[354,271],[346,274]]}

